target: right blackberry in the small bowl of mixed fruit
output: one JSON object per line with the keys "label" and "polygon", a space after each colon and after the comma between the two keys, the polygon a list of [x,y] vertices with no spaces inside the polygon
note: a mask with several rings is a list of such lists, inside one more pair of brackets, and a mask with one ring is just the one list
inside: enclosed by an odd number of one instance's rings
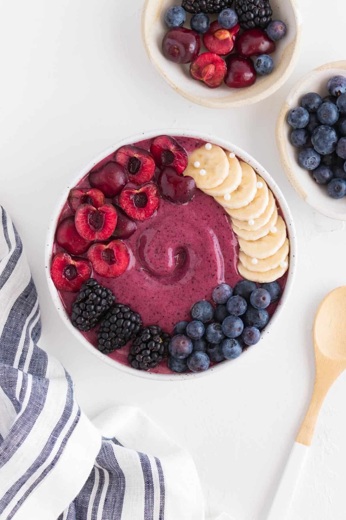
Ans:
{"label": "right blackberry in the small bowl of mixed fruit", "polygon": [[242,29],[265,29],[273,14],[269,0],[236,0],[235,9]]}

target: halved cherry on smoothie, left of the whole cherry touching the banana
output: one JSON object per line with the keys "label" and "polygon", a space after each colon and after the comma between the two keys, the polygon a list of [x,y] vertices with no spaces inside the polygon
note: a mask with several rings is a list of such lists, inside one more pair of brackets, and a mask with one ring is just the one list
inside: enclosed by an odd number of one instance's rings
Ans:
{"label": "halved cherry on smoothie, left of the whole cherry touching the banana", "polygon": [[149,183],[139,190],[124,188],[120,193],[119,204],[129,217],[146,220],[154,215],[160,204],[157,186]]}

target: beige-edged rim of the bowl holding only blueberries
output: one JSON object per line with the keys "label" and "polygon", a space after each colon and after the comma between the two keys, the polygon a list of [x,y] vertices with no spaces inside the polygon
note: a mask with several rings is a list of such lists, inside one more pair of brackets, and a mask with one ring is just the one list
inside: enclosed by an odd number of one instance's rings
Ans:
{"label": "beige-edged rim of the bowl holding only blueberries", "polygon": [[346,60],[340,60],[340,61],[331,61],[330,63],[325,63],[319,67],[316,67],[315,69],[311,70],[307,74],[305,74],[300,80],[298,80],[293,87],[290,89],[285,101],[283,102],[283,105],[281,107],[278,119],[276,120],[276,127],[275,127],[275,137],[276,137],[276,146],[278,147],[279,157],[284,169],[284,172],[286,173],[288,180],[290,184],[293,186],[293,188],[298,193],[299,197],[304,201],[307,202],[311,207],[313,207],[314,210],[321,213],[321,215],[324,215],[329,218],[333,218],[335,220],[346,220],[346,210],[344,213],[337,213],[335,211],[330,211],[325,209],[324,206],[322,206],[320,203],[316,201],[315,198],[309,197],[308,193],[305,191],[305,189],[302,187],[299,176],[296,175],[295,169],[289,160],[288,152],[287,152],[287,136],[285,135],[285,124],[286,124],[286,116],[287,112],[290,109],[292,105],[293,97],[296,93],[305,85],[307,81],[311,79],[311,77],[317,72],[322,72],[328,69],[344,69],[346,70]]}

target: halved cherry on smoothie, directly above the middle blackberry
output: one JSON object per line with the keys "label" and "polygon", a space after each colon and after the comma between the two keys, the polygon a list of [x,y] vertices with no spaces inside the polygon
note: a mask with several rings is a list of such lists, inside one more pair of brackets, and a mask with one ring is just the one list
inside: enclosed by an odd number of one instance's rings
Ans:
{"label": "halved cherry on smoothie, directly above the middle blackberry", "polygon": [[94,270],[105,278],[122,275],[130,263],[130,253],[121,240],[92,245],[88,251],[88,258]]}

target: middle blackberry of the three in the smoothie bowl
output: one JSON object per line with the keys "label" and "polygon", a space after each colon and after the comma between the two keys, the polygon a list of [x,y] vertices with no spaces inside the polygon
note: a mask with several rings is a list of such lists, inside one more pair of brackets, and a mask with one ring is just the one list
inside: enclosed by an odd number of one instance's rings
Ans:
{"label": "middle blackberry of the three in the smoothie bowl", "polygon": [[141,327],[142,320],[138,313],[134,313],[127,305],[115,303],[101,320],[98,349],[103,354],[118,350],[133,340]]}

